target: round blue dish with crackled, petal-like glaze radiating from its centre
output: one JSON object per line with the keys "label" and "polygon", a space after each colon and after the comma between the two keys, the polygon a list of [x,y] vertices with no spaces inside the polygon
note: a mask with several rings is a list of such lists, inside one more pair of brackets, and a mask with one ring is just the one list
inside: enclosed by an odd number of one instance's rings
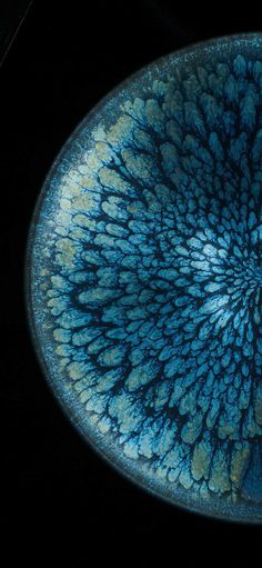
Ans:
{"label": "round blue dish with crackled, petal-like glaze radiating from its centre", "polygon": [[36,343],[84,437],[160,497],[256,522],[261,165],[261,37],[171,54],[69,140],[29,248]]}

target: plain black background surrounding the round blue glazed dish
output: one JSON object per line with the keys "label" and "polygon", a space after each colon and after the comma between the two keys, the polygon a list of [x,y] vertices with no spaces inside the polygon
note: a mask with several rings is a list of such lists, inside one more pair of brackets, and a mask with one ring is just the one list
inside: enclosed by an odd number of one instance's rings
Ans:
{"label": "plain black background surrounding the round blue glazed dish", "polygon": [[[63,416],[41,375],[27,329],[23,262],[37,196],[56,155],[102,96],[153,59],[194,41],[262,30],[248,7],[225,17],[174,1],[34,2],[1,69],[3,229],[1,530],[173,549],[231,542],[251,550],[260,529],[182,511],[147,495],[104,464]],[[262,535],[261,535],[262,536]],[[16,539],[14,538],[14,539]],[[118,539],[118,540],[117,540]],[[27,541],[27,539],[26,539]],[[195,552],[194,552],[195,554]],[[198,555],[196,555],[198,557]],[[75,561],[72,566],[75,566]]]}

